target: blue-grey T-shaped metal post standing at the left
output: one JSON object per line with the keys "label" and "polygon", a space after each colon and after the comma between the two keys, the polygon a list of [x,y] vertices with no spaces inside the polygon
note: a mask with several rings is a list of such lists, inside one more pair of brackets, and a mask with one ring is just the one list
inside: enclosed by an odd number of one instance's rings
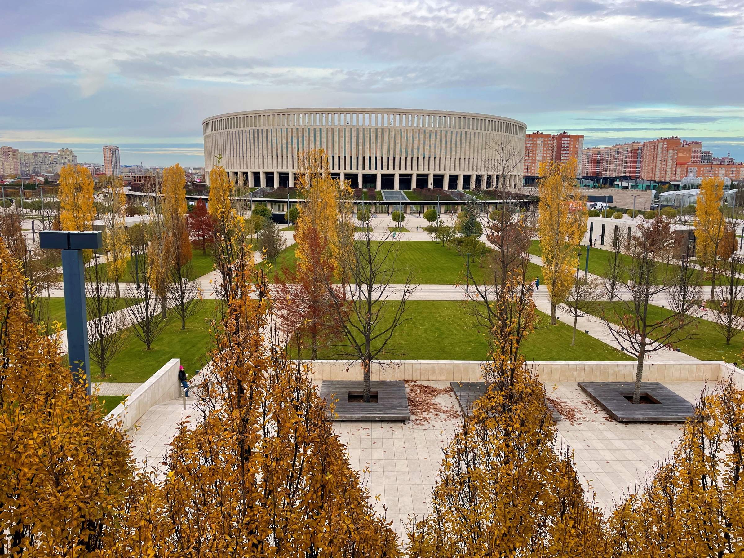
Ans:
{"label": "blue-grey T-shaped metal post standing at the left", "polygon": [[89,396],[92,391],[83,250],[97,250],[102,247],[101,231],[39,232],[39,248],[62,250],[62,284],[65,288],[67,353],[70,370],[75,381],[86,383],[86,391]]}

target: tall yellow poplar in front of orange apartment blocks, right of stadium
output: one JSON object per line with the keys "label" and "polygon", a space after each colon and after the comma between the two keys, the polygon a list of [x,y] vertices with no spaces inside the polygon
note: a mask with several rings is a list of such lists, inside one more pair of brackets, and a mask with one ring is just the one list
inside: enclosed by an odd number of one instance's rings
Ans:
{"label": "tall yellow poplar in front of orange apartment blocks, right of stadium", "polygon": [[556,307],[571,292],[579,243],[589,217],[576,182],[576,160],[542,164],[538,193],[542,276],[551,297],[551,324],[555,325]]}

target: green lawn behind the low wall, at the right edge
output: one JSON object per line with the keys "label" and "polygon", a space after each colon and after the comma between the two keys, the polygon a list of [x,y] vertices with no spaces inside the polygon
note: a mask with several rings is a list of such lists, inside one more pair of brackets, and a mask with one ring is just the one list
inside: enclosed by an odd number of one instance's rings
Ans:
{"label": "green lawn behind the low wall, at the right edge", "polygon": [[[609,321],[616,323],[615,313],[610,310],[610,305],[618,307],[618,302],[599,302],[596,303],[597,307],[592,310],[595,315],[600,315],[604,309]],[[710,312],[710,310],[708,310]],[[664,316],[670,315],[671,311],[666,308],[658,306],[649,306],[649,318],[650,321],[658,321]],[[687,341],[673,342],[674,347],[679,347],[683,353],[687,353],[690,356],[694,356],[700,360],[723,360],[725,362],[740,362],[739,355],[742,350],[742,344],[744,343],[744,334],[737,333],[731,344],[727,345],[724,336],[719,333],[716,325],[712,321],[708,321],[702,318],[695,320],[694,324],[690,326],[690,331],[693,332],[695,339],[687,339]],[[677,338],[679,339],[679,337]]]}

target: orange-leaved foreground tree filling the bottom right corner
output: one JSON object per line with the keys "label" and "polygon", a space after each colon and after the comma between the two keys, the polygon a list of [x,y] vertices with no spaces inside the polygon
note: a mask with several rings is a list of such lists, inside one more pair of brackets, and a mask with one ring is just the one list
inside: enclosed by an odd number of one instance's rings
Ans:
{"label": "orange-leaved foreground tree filling the bottom right corner", "polygon": [[744,391],[729,377],[702,394],[672,458],[615,507],[611,555],[741,556],[743,471]]}

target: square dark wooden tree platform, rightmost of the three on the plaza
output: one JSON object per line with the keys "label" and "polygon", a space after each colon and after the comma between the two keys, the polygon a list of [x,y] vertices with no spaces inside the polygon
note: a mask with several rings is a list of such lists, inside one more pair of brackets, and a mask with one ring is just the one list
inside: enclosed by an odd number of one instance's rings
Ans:
{"label": "square dark wooden tree platform, rightmost of the three on the plaza", "polygon": [[578,382],[578,386],[620,423],[684,423],[693,405],[659,382],[641,382],[641,403],[633,405],[633,382]]}

